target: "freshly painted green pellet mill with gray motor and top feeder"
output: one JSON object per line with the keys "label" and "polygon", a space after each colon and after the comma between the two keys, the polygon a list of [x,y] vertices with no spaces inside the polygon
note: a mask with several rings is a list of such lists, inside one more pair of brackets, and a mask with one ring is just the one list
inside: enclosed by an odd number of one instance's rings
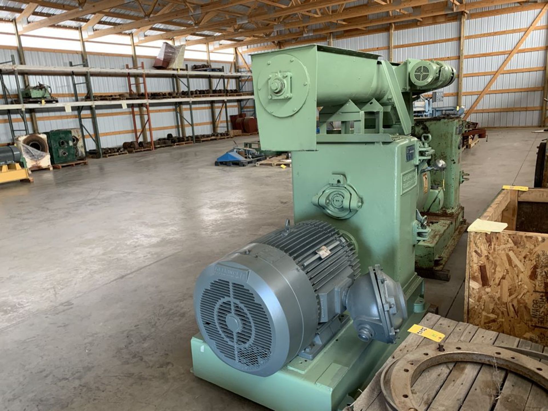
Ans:
{"label": "freshly painted green pellet mill with gray motor and top feeder", "polygon": [[253,55],[261,147],[292,152],[294,224],[198,277],[196,376],[275,410],[352,402],[425,313],[419,201],[439,193],[419,196],[418,176],[444,166],[411,135],[412,101],[454,78],[322,45]]}

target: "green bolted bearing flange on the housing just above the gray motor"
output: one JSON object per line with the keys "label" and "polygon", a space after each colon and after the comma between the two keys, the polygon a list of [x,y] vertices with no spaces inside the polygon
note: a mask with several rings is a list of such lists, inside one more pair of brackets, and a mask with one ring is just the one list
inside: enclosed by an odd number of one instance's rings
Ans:
{"label": "green bolted bearing flange on the housing just above the gray motor", "polygon": [[362,199],[343,174],[333,174],[329,184],[312,198],[312,204],[337,219],[347,219],[362,208]]}

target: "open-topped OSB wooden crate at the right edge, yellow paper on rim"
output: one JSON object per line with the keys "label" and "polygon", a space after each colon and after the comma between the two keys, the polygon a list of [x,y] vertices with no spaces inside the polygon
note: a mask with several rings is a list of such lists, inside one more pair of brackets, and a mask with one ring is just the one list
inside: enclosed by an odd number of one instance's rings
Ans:
{"label": "open-topped OSB wooden crate at the right edge, yellow paper on rim", "polygon": [[508,227],[468,234],[465,321],[548,345],[548,190],[503,190],[480,218]]}

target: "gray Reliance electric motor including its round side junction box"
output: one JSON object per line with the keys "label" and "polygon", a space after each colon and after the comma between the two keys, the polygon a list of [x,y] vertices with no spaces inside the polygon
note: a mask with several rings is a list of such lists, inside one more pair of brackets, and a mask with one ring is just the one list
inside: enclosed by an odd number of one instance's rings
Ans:
{"label": "gray Reliance electric motor including its round side junction box", "polygon": [[349,321],[358,337],[393,343],[407,318],[399,283],[379,266],[360,275],[352,241],[310,220],[256,239],[209,265],[194,290],[198,326],[231,367],[268,376],[313,358]]}

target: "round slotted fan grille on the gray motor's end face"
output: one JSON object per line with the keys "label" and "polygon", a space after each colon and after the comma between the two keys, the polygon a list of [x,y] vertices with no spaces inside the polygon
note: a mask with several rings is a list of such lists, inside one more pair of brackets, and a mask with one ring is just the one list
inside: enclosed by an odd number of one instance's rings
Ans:
{"label": "round slotted fan grille on the gray motor's end face", "polygon": [[204,289],[199,312],[208,339],[239,369],[256,370],[270,361],[270,321],[248,288],[216,279]]}

